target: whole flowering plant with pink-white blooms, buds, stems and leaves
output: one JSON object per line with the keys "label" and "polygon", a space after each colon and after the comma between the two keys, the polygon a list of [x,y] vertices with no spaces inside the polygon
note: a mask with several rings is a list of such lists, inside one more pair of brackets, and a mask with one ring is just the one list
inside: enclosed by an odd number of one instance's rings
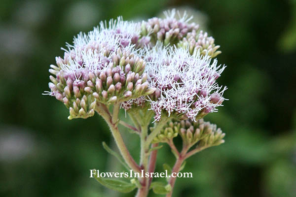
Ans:
{"label": "whole flowering plant with pink-white blooms, buds, stems and leaves", "polygon": [[[156,155],[166,143],[176,157],[170,173],[182,170],[185,160],[199,151],[224,142],[221,129],[203,117],[222,106],[223,92],[217,79],[225,66],[214,59],[221,53],[213,37],[189,23],[186,14],[166,12],[166,18],[142,23],[117,20],[101,22],[89,33],[74,37],[64,57],[56,58],[49,72],[50,96],[69,109],[68,119],[89,118],[97,112],[110,127],[121,156],[117,158],[134,172],[154,172]],[[134,125],[119,117],[125,110]],[[141,139],[138,164],[127,149],[118,124]],[[174,144],[181,137],[182,150]],[[114,152],[104,144],[111,154]],[[98,178],[119,192],[138,189],[137,197],[156,194],[172,196],[176,178],[166,183],[152,178],[131,182]]]}

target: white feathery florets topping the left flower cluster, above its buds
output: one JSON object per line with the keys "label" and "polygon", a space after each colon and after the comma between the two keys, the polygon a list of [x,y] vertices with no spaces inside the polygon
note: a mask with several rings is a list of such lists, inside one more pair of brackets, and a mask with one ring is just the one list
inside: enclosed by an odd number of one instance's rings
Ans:
{"label": "white feathery florets topping the left flower cluster, above its buds", "polygon": [[[57,60],[62,70],[77,71],[102,70],[108,67],[112,55],[117,49],[124,49],[130,53],[136,52],[135,43],[140,36],[141,25],[129,21],[117,20],[101,22],[93,31],[79,33],[74,37],[73,45],[67,43],[64,49],[64,60]],[[83,66],[82,66],[83,64]]]}

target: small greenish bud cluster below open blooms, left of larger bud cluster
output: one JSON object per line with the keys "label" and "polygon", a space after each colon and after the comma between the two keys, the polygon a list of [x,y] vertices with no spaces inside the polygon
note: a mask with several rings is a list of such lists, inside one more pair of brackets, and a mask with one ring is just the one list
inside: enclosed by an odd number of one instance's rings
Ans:
{"label": "small greenish bud cluster below open blooms, left of larger bud cluster", "polygon": [[[151,132],[154,130],[154,127],[150,128]],[[179,130],[180,130],[180,123],[170,121],[157,134],[157,136],[153,139],[152,143],[169,142],[171,139],[178,136]]]}

